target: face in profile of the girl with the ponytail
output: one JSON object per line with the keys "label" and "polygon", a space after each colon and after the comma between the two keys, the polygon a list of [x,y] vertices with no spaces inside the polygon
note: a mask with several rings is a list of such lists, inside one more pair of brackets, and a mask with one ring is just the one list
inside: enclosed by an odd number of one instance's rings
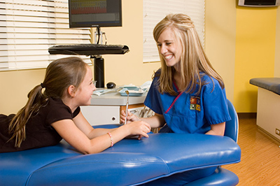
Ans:
{"label": "face in profile of the girl with the ponytail", "polygon": [[80,87],[76,92],[76,98],[78,101],[78,106],[88,106],[90,105],[90,100],[92,98],[93,91],[96,90],[94,83],[92,82],[92,71],[90,67],[87,67],[87,73],[83,82],[80,83]]}

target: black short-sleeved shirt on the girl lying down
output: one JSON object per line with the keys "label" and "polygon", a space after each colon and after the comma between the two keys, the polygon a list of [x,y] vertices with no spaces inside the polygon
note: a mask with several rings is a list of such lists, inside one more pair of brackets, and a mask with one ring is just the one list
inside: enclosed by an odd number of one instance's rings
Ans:
{"label": "black short-sleeved shirt on the girl lying down", "polygon": [[80,113],[78,107],[74,113],[61,99],[49,98],[48,104],[40,108],[37,115],[31,117],[26,124],[26,139],[22,141],[20,148],[15,148],[15,138],[8,141],[8,124],[14,115],[0,115],[0,152],[15,152],[31,148],[41,148],[57,145],[62,137],[52,128],[51,124],[59,120],[72,120]]}

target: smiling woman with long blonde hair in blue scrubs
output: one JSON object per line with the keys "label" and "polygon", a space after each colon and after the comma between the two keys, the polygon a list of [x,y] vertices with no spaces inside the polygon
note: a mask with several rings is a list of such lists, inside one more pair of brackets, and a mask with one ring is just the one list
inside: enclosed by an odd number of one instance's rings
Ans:
{"label": "smiling woman with long blonde hair in blue scrubs", "polygon": [[[167,15],[155,26],[153,36],[161,69],[153,76],[144,104],[155,115],[139,118],[128,113],[127,123],[142,120],[152,128],[162,127],[160,132],[223,136],[230,120],[225,86],[204,53],[193,21],[188,15]],[[124,120],[122,110],[120,121]],[[184,185],[215,169],[188,171],[160,179],[158,185]]]}

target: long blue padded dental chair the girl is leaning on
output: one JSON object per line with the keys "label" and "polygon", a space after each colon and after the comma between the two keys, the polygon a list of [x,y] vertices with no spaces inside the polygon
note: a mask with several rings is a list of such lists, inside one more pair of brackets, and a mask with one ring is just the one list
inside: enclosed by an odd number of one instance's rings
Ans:
{"label": "long blue padded dental chair the girl is leaning on", "polygon": [[[45,148],[0,153],[0,183],[6,186],[139,185],[192,169],[235,164],[240,158],[239,145],[227,136],[149,134],[149,138],[140,141],[124,139],[93,155],[81,155],[62,141]],[[235,176],[230,173],[229,176]],[[237,176],[232,180],[234,185],[238,183]]]}

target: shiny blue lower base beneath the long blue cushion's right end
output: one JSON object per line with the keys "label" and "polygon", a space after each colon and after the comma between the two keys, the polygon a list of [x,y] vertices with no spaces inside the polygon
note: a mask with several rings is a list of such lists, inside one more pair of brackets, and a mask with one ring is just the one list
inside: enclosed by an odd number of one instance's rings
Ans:
{"label": "shiny blue lower base beneath the long blue cushion's right end", "polygon": [[221,168],[221,166],[218,166],[216,171],[210,176],[201,178],[199,180],[195,180],[192,183],[186,184],[185,186],[234,186],[238,183],[239,178],[235,175],[235,173],[232,173],[231,171],[228,171],[227,169],[223,169]]}

